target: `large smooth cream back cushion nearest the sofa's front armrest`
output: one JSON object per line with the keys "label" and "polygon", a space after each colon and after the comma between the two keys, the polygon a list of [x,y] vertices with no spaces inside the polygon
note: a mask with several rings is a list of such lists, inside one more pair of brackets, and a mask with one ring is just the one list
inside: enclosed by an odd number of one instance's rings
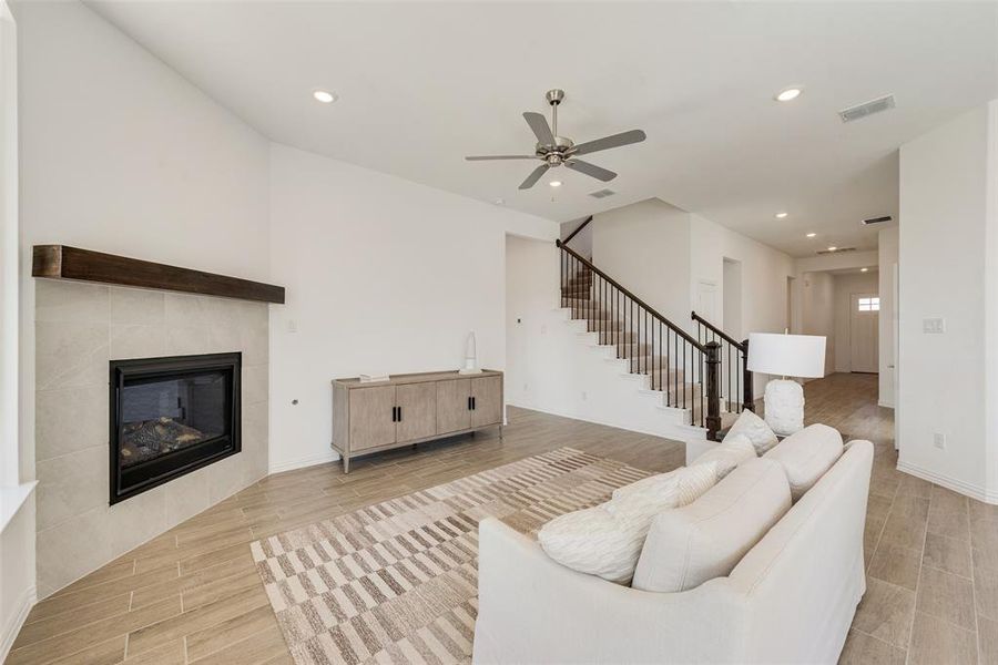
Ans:
{"label": "large smooth cream back cushion nearest the sofa's front armrest", "polygon": [[748,460],[690,505],[652,520],[631,585],[679,592],[727,575],[790,507],[783,468]]}

